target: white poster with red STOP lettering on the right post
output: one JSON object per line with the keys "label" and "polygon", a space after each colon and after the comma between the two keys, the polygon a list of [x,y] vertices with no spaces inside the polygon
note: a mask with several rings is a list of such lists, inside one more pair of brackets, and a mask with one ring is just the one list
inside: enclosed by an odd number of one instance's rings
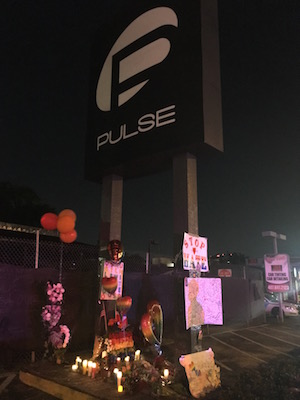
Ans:
{"label": "white poster with red STOP lettering on the right post", "polygon": [[208,272],[207,238],[184,233],[183,246],[183,268]]}

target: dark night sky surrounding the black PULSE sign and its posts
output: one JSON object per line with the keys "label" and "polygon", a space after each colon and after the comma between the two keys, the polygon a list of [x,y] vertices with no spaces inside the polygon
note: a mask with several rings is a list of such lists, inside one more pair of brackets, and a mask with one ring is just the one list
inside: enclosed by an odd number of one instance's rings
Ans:
{"label": "dark night sky surrounding the black PULSE sign and its posts", "polygon": [[[0,181],[73,209],[92,244],[101,186],[84,179],[84,147],[101,3],[2,0],[0,13]],[[225,151],[198,161],[199,234],[210,254],[259,257],[273,230],[287,236],[280,252],[300,256],[299,2],[226,0],[219,14]],[[123,200],[125,250],[154,239],[171,254],[172,171],[125,181]]]}

